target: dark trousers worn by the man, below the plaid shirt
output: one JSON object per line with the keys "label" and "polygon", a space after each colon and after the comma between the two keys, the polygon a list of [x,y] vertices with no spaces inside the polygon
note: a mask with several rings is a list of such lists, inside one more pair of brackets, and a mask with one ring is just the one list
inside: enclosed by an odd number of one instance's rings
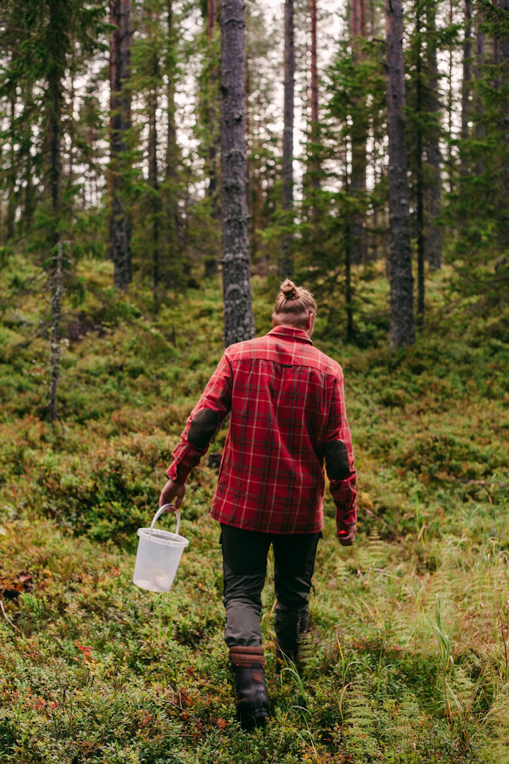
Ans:
{"label": "dark trousers worn by the man, below the plaid shirt", "polygon": [[221,523],[224,607],[228,647],[262,644],[260,613],[267,554],[274,549],[275,636],[285,651],[295,650],[308,630],[308,597],[321,533],[257,533]]}

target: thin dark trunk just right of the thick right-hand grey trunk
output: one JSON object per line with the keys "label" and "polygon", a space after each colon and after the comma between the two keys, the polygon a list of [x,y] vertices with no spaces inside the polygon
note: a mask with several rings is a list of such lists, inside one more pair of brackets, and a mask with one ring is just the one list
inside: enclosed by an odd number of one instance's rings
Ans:
{"label": "thin dark trunk just right of the thick right-hand grey trunk", "polygon": [[424,325],[424,178],[423,178],[423,82],[422,82],[422,44],[420,37],[420,6],[417,5],[415,19],[417,34],[416,70],[416,112],[417,134],[415,140],[415,169],[416,169],[416,228],[417,228],[417,326]]}

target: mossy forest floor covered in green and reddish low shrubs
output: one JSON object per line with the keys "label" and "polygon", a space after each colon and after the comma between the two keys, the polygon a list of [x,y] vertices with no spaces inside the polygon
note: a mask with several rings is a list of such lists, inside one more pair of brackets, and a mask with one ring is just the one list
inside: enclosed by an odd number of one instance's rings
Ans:
{"label": "mossy forest floor covered in green and reddish low shrubs", "polygon": [[[195,470],[190,544],[169,594],[131,582],[170,453],[222,351],[221,289],[118,298],[84,262],[69,305],[60,421],[47,423],[47,302],[31,270],[0,285],[0,760],[509,762],[509,350],[500,322],[452,312],[430,278],[427,332],[387,348],[385,280],[359,280],[356,344],[323,304],[314,342],[345,373],[359,472],[352,548],[327,494],[301,676],[275,674],[263,599],[266,730],[234,720],[223,643],[217,472]],[[26,296],[11,299],[26,287]],[[254,280],[257,334],[274,280]],[[320,306],[319,306],[320,308]],[[221,430],[211,452],[221,450]],[[169,518],[162,526],[170,528]]]}

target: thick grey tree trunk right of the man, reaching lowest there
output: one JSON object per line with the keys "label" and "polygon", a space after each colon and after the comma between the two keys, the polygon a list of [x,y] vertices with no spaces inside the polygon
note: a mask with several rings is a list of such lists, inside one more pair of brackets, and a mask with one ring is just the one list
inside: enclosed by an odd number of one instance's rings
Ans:
{"label": "thick grey tree trunk right of the man, reaching lowest there", "polygon": [[408,206],[408,157],[404,134],[403,9],[401,0],[385,0],[390,219],[391,347],[412,345],[414,293]]}

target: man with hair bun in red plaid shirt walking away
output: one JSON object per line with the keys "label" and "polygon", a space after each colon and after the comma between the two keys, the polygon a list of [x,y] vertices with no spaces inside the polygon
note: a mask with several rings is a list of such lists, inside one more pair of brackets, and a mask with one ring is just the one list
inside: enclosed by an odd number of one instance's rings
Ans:
{"label": "man with hair bun in red plaid shirt walking away", "polygon": [[285,280],[264,337],[230,345],[182,432],[159,506],[180,507],[185,481],[231,413],[211,516],[221,523],[224,635],[243,727],[269,715],[259,615],[267,552],[275,558],[276,654],[297,660],[323,525],[324,461],[337,537],[356,533],[356,472],[343,371],[314,348],[317,306]]}

